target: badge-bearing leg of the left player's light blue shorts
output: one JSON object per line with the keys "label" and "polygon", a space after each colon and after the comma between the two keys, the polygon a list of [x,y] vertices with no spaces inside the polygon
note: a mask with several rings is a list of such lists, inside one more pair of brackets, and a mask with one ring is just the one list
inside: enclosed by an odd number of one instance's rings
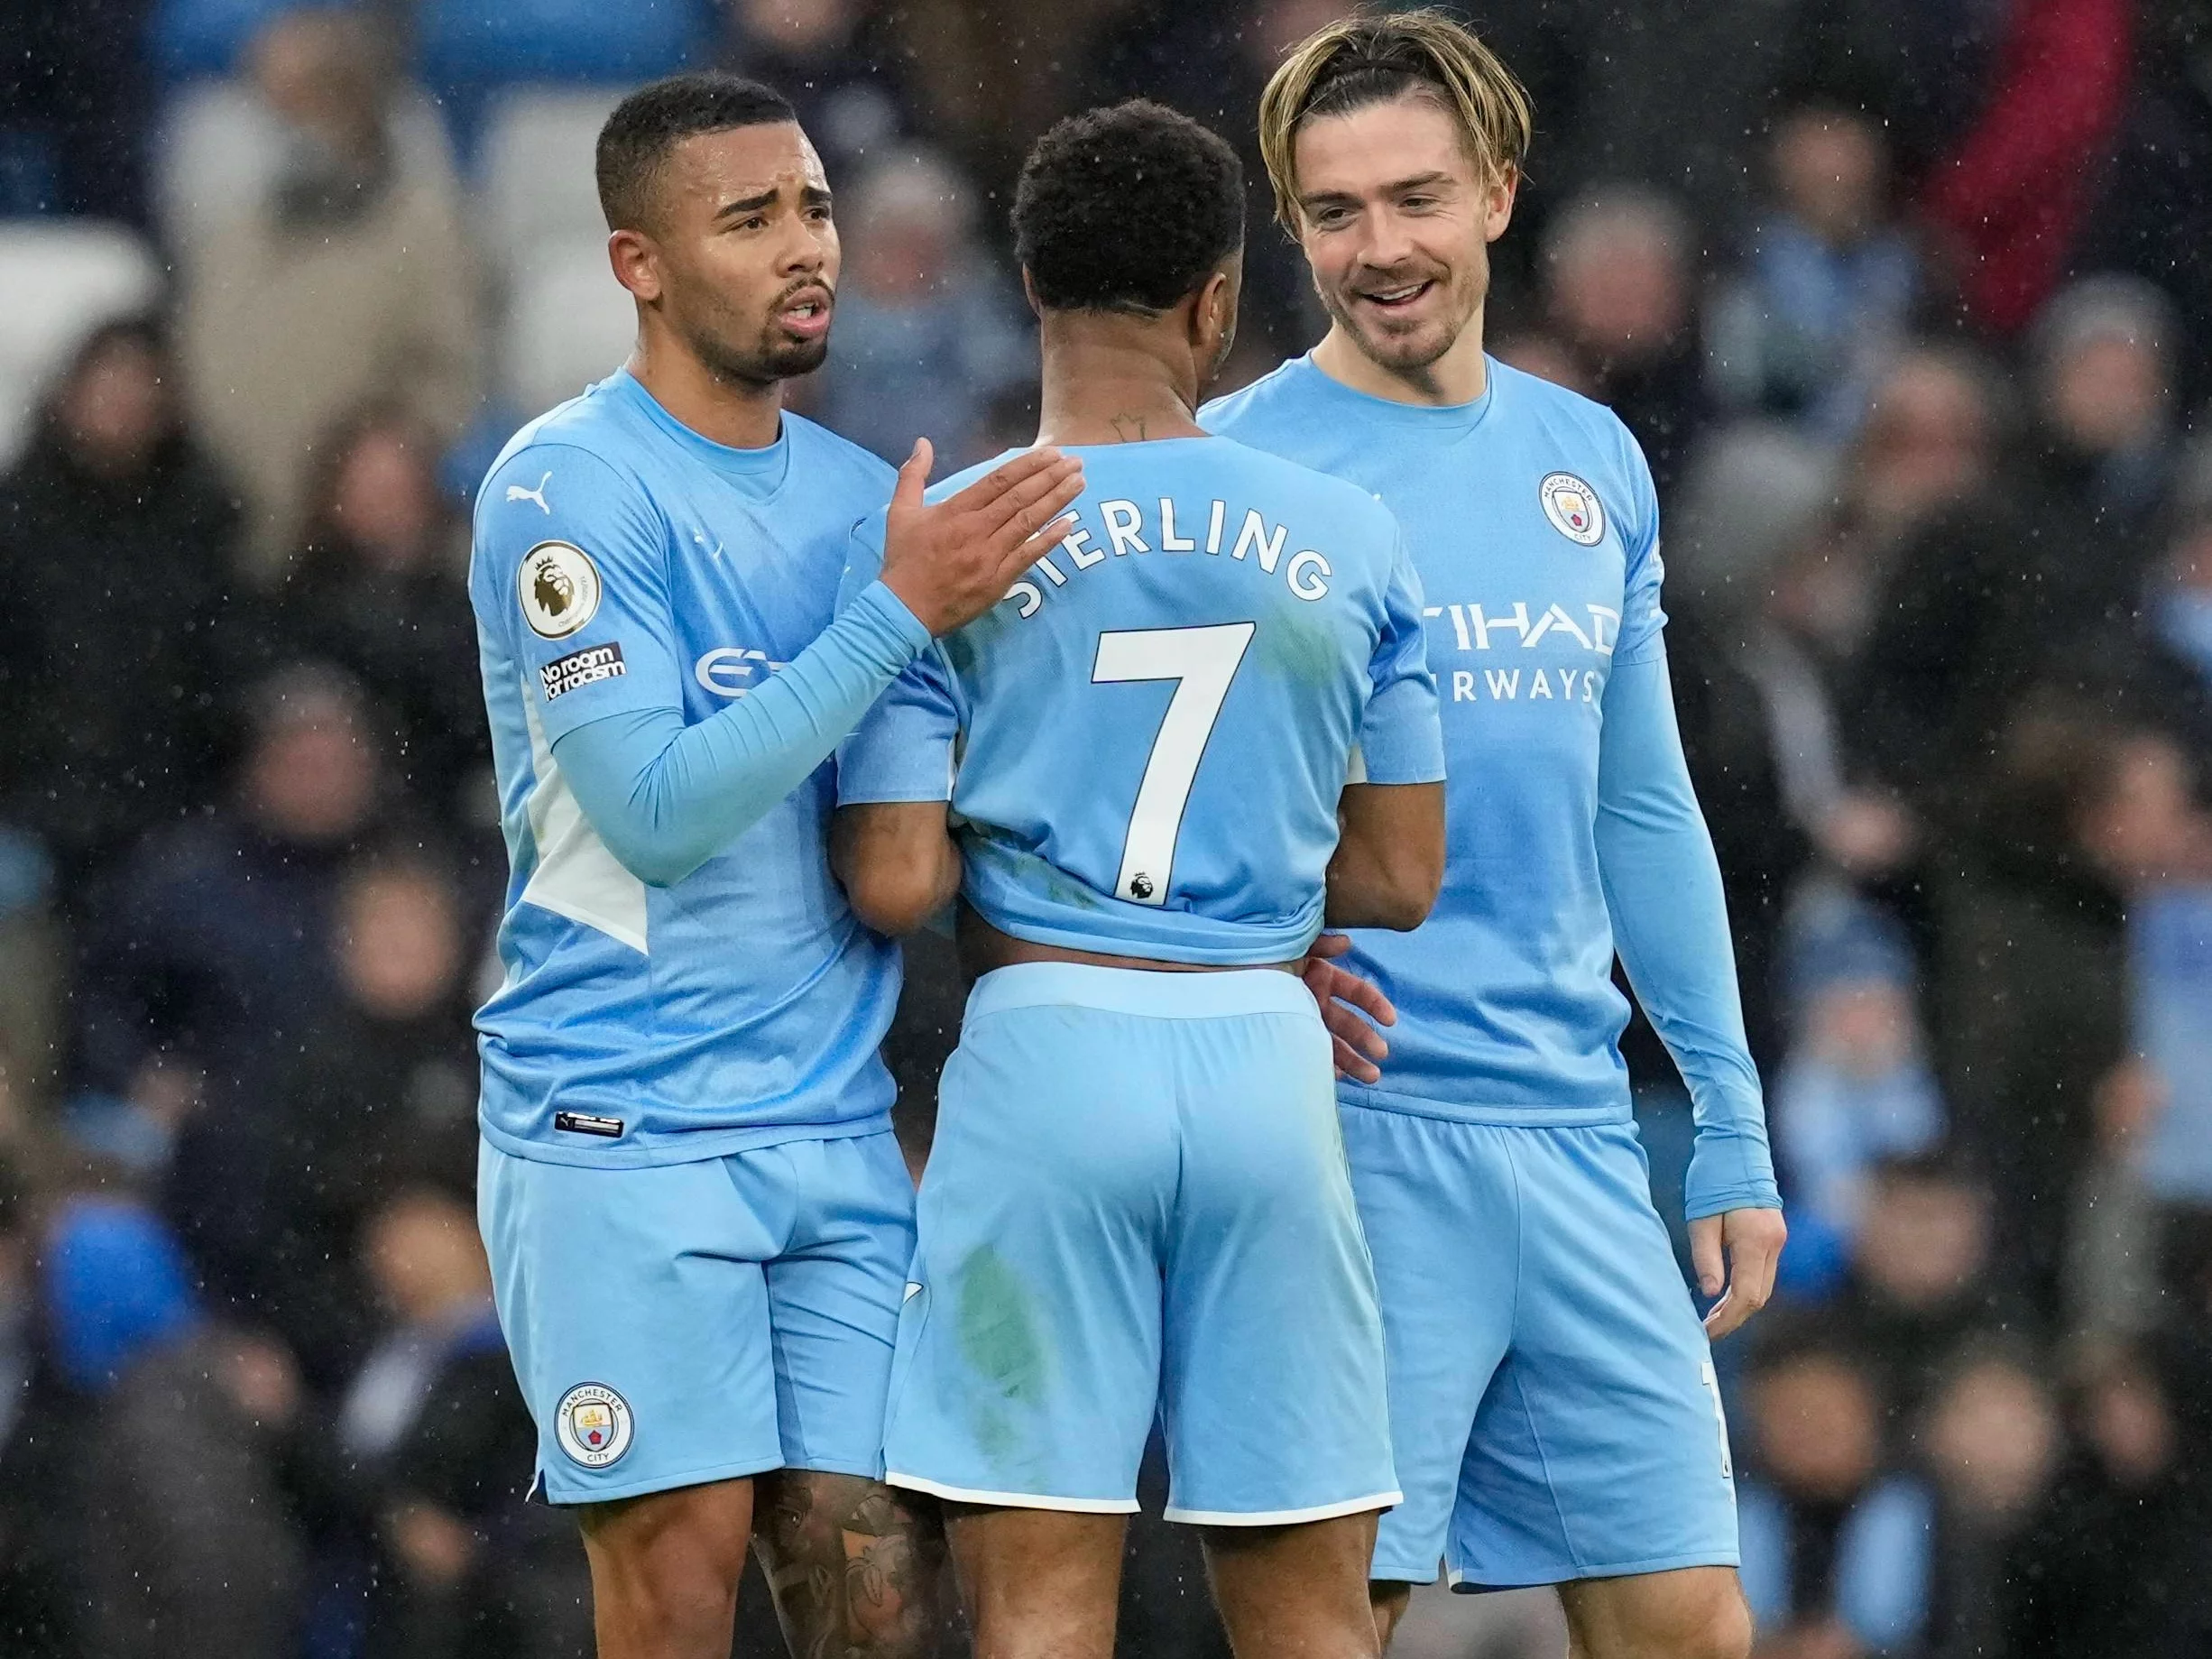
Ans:
{"label": "badge-bearing leg of the left player's light blue shorts", "polygon": [[719,1159],[604,1170],[484,1146],[478,1221],[549,1502],[783,1462],[761,1261]]}

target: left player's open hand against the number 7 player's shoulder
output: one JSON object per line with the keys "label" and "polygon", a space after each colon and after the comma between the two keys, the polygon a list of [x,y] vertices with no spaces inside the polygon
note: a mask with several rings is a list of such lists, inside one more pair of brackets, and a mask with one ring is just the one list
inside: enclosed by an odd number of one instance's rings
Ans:
{"label": "left player's open hand against the number 7 player's shoulder", "polygon": [[1064,533],[1084,465],[1031,449],[942,502],[927,502],[931,449],[920,438],[898,469],[883,533],[883,584],[933,635],[962,628],[1006,597],[1015,577]]}

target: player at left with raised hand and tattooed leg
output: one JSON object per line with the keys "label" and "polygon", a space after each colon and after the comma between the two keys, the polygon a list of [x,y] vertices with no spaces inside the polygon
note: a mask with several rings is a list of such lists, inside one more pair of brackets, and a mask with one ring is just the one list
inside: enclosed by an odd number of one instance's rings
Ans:
{"label": "player at left with raised hand and tattooed leg", "polygon": [[[513,865],[478,1015],[500,1323],[602,1655],[726,1659],[752,1533],[794,1650],[933,1652],[914,1517],[876,1480],[914,1237],[876,1055],[898,960],[830,878],[827,761],[1057,540],[1079,465],[925,504],[927,445],[894,495],[783,414],[838,241],[772,91],[648,86],[597,173],[637,352],[524,427],[476,513]],[[832,619],[887,498],[880,580]]]}

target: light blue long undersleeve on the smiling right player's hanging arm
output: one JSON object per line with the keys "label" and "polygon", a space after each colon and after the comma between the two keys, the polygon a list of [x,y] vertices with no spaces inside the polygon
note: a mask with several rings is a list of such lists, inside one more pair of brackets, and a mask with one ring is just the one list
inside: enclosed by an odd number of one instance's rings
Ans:
{"label": "light blue long undersleeve on the smiling right player's hanging arm", "polygon": [[1778,1206],[1721,865],[1681,757],[1663,657],[1615,666],[1597,787],[1615,947],[1697,1115],[1688,1214]]}

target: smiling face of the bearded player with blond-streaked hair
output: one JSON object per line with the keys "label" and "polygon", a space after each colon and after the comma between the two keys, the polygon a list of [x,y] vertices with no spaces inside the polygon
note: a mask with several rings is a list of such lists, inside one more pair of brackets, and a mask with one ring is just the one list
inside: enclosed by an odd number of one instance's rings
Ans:
{"label": "smiling face of the bearded player with blond-streaked hair", "polygon": [[1360,356],[1418,378],[1471,325],[1480,349],[1513,175],[1471,155],[1453,115],[1420,93],[1305,122],[1294,157],[1314,290]]}

